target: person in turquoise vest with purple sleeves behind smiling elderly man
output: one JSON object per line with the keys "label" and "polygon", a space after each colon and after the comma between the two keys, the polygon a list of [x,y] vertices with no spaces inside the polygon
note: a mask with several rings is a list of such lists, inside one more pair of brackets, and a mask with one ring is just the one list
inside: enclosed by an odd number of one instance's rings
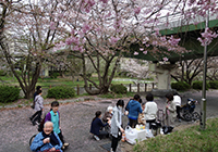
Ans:
{"label": "person in turquoise vest with purple sleeves behind smiling elderly man", "polygon": [[47,121],[50,121],[50,122],[53,123],[53,131],[56,134],[58,134],[60,140],[63,143],[62,149],[64,150],[66,147],[69,147],[69,143],[64,142],[64,140],[63,140],[63,136],[62,136],[62,132],[61,132],[61,129],[60,129],[60,113],[59,113],[58,109],[59,109],[59,102],[53,101],[51,103],[50,112],[46,115],[45,123]]}

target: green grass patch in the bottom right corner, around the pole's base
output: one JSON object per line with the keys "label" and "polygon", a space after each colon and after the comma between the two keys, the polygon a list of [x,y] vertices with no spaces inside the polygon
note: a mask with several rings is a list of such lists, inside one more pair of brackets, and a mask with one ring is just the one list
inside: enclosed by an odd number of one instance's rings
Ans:
{"label": "green grass patch in the bottom right corner, around the pole's base", "polygon": [[207,121],[206,130],[199,125],[167,136],[138,142],[135,152],[218,152],[218,118]]}

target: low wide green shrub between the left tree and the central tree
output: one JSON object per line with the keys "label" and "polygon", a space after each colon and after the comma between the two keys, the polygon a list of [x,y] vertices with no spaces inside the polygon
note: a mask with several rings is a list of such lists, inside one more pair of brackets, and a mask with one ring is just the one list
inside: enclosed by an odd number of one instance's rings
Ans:
{"label": "low wide green shrub between the left tree and the central tree", "polygon": [[47,98],[68,99],[75,97],[75,90],[66,86],[57,86],[48,90]]}

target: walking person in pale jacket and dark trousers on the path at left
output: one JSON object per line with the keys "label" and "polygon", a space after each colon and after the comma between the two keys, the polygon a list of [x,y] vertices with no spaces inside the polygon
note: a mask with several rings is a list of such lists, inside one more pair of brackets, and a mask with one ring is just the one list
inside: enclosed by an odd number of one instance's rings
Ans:
{"label": "walking person in pale jacket and dark trousers on the path at left", "polygon": [[37,96],[35,98],[35,106],[34,106],[34,110],[36,111],[36,113],[29,117],[34,126],[39,124],[41,121],[41,114],[44,111],[44,98],[41,97],[41,94],[43,94],[43,91],[38,90]]}

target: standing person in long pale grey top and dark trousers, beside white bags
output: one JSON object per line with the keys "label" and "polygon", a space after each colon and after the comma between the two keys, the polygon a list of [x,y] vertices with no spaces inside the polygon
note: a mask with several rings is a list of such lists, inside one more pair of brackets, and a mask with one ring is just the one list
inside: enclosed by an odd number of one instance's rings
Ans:
{"label": "standing person in long pale grey top and dark trousers, beside white bags", "polygon": [[111,119],[111,151],[116,152],[118,142],[122,137],[124,129],[122,128],[122,109],[124,106],[123,100],[118,100],[117,106],[113,107],[113,116]]}

